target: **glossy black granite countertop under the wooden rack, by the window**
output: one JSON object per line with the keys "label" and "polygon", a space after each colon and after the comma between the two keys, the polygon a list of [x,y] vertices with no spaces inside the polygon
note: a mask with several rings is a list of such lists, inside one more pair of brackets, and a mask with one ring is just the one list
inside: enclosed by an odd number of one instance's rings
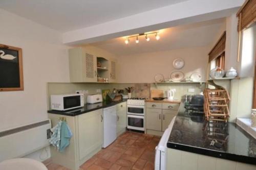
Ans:
{"label": "glossy black granite countertop under the wooden rack, by the window", "polygon": [[[217,143],[211,145],[214,139]],[[184,102],[180,105],[167,147],[256,164],[256,139],[234,123],[207,122],[203,113],[188,113]]]}

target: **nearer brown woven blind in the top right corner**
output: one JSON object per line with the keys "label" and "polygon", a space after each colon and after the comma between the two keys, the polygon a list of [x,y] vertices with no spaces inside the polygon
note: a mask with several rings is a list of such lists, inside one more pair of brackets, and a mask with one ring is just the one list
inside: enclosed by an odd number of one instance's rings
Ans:
{"label": "nearer brown woven blind in the top right corner", "polygon": [[243,31],[256,21],[256,0],[247,0],[237,13],[238,32]]}

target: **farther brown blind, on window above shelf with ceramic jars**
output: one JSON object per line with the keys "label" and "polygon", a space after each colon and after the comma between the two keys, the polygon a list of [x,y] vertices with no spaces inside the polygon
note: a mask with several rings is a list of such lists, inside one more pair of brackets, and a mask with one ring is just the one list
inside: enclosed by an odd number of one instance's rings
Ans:
{"label": "farther brown blind, on window above shelf with ceramic jars", "polygon": [[209,55],[209,62],[212,60],[215,60],[217,57],[222,55],[225,52],[225,46],[226,46],[226,31],[221,35],[220,39],[212,48]]}

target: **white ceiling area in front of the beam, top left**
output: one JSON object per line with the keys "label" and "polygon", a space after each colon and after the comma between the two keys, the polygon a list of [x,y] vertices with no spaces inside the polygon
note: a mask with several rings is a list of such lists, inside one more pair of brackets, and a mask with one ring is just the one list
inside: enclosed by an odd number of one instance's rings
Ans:
{"label": "white ceiling area in front of the beam, top left", "polygon": [[184,1],[188,0],[1,0],[0,8],[66,32]]}

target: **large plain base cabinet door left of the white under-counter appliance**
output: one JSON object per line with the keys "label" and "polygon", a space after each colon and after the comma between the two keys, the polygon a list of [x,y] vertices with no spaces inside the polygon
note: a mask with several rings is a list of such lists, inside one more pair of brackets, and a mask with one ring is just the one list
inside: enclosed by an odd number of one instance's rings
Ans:
{"label": "large plain base cabinet door left of the white under-counter appliance", "polygon": [[92,151],[102,146],[102,109],[78,115],[78,135],[79,159],[81,160]]}

